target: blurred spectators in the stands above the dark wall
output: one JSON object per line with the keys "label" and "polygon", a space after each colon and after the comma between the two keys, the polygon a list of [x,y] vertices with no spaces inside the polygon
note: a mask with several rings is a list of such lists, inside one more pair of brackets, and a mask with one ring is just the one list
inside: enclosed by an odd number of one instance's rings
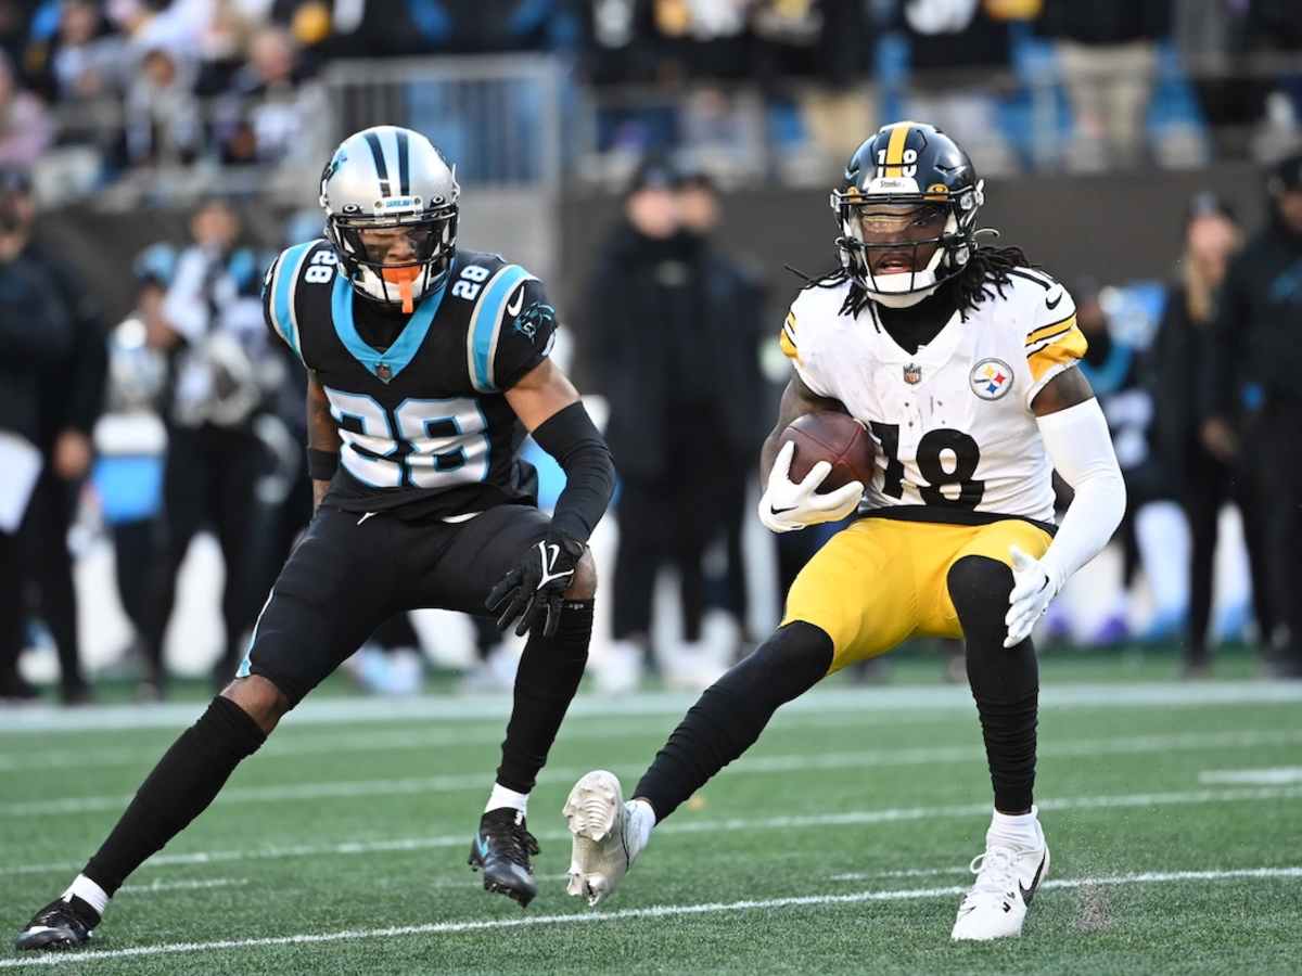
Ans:
{"label": "blurred spectators in the stands above the dark wall", "polygon": [[[991,174],[1190,167],[1298,133],[1299,51],[1292,0],[0,0],[0,163],[40,160],[60,199],[142,168],[306,172],[339,135],[332,61],[547,52],[565,115],[591,111],[565,135],[589,176],[684,147],[822,182],[887,117],[934,120]],[[536,92],[506,65],[510,116]],[[458,83],[398,104],[453,112]]]}

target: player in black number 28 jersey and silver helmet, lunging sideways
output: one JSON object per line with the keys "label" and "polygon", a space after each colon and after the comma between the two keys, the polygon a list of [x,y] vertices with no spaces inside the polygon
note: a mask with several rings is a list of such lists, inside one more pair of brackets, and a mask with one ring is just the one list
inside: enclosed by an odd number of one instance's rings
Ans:
{"label": "player in black number 28 jersey and silver helmet, lunging sideways", "polygon": [[[578,688],[596,573],[586,541],[615,481],[609,452],[548,358],[542,284],[457,249],[453,169],[421,134],[345,139],[322,176],[326,237],[267,272],[268,328],[309,372],[316,513],[280,573],[237,677],[154,768],[108,839],[18,936],[85,942],[108,899],[214,800],[280,718],[393,613],[491,612],[529,642],[470,863],[484,888],[536,894],[526,800]],[[525,436],[566,488],[535,506]]]}

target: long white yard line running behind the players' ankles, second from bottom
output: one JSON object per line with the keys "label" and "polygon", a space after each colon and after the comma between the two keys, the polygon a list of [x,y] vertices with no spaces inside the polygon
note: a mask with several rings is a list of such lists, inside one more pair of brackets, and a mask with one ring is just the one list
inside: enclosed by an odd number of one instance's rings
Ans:
{"label": "long white yard line running behind the players' ankles, second from bottom", "polygon": [[[1124,807],[1200,806],[1204,803],[1240,803],[1243,800],[1302,799],[1302,786],[1260,786],[1253,789],[1191,790],[1180,793],[1122,794],[1117,796],[1064,796],[1039,800],[1042,811],[1115,809]],[[811,813],[807,816],[781,816],[720,820],[671,820],[656,828],[660,834],[697,834],[727,830],[789,830],[792,828],[853,826],[866,824],[892,824],[931,817],[988,817],[990,803],[963,803],[949,807],[894,807],[887,809],[846,811],[845,813]],[[470,829],[465,833],[441,837],[408,837],[393,841],[350,841],[327,845],[296,845],[290,847],[262,847],[238,851],[195,851],[193,854],[159,854],[150,858],[151,867],[178,864],[215,864],[233,860],[266,860],[271,858],[318,858],[352,854],[380,854],[391,851],[423,851],[439,847],[461,847],[470,842]],[[569,841],[566,830],[536,834],[539,841]],[[39,874],[76,871],[83,861],[57,861],[46,864],[0,864],[0,877],[5,874]]]}

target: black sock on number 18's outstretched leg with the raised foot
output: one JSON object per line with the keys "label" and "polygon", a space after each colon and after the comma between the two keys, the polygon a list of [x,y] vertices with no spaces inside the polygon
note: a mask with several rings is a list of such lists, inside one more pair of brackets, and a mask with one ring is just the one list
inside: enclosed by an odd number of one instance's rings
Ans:
{"label": "black sock on number 18's outstretched leg with the raised foot", "polygon": [[633,795],[650,800],[656,820],[664,820],[750,748],[773,712],[818,685],[831,665],[832,638],[811,623],[788,623],[706,688]]}

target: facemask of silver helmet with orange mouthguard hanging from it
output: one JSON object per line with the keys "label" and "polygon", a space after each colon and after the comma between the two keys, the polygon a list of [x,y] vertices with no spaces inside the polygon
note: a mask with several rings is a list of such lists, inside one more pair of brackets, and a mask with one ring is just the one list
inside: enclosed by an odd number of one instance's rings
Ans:
{"label": "facemask of silver helmet with orange mouthguard hanging from it", "polygon": [[405,315],[448,278],[457,242],[456,204],[409,216],[331,215],[326,234],[353,286],[400,305]]}

